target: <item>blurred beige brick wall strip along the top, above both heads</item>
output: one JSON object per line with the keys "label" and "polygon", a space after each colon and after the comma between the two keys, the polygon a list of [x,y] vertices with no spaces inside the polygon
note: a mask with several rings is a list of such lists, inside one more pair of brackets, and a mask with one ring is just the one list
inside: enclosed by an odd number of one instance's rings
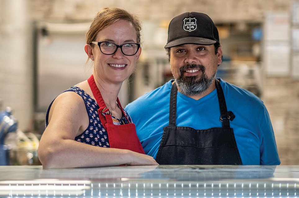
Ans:
{"label": "blurred beige brick wall strip along the top, above both heads", "polygon": [[143,20],[169,20],[186,11],[205,12],[215,22],[259,21],[268,11],[290,11],[295,0],[31,0],[35,19],[91,19],[106,6],[125,8]]}

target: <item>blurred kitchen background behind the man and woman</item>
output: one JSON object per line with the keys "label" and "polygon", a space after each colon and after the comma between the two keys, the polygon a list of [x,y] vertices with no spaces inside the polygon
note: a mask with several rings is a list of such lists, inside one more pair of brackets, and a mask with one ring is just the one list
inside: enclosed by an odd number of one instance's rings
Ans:
{"label": "blurred kitchen background behind the man and woman", "polygon": [[265,102],[281,164],[299,164],[299,1],[0,0],[0,165],[39,164],[47,107],[91,74],[84,34],[107,6],[143,21],[142,56],[123,84],[123,106],[172,79],[164,49],[170,20],[204,12],[220,34],[217,76]]}

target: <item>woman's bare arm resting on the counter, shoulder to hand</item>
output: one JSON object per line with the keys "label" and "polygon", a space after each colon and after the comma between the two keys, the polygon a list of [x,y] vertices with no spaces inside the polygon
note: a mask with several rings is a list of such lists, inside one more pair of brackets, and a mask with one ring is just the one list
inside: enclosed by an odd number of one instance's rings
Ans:
{"label": "woman's bare arm resting on the counter, shoulder to hand", "polygon": [[87,126],[88,115],[82,98],[73,92],[59,95],[51,106],[49,124],[39,143],[38,155],[43,167],[157,165],[148,155],[75,141]]}

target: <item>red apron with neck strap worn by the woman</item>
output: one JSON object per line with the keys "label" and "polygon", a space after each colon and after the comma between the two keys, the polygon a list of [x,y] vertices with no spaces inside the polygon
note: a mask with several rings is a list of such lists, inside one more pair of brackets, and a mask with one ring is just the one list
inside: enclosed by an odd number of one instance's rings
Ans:
{"label": "red apron with neck strap worn by the woman", "polygon": [[89,87],[91,88],[93,96],[95,97],[97,104],[99,105],[99,109],[97,110],[97,112],[99,114],[99,118],[103,127],[108,133],[110,148],[128,149],[137,153],[145,154],[140,140],[138,139],[138,136],[136,134],[135,124],[129,123],[129,119],[127,118],[123,108],[121,107],[119,99],[117,98],[117,104],[119,105],[122,114],[128,120],[129,124],[113,124],[111,114],[109,114],[111,113],[111,111],[106,107],[100,90],[97,88],[97,84],[94,81],[93,75],[91,75],[87,81]]}

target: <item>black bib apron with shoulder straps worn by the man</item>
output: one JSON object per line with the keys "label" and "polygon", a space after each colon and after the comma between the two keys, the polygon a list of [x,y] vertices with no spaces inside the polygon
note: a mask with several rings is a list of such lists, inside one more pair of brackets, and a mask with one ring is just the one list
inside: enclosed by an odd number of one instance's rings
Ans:
{"label": "black bib apron with shoulder straps worn by the man", "polygon": [[220,119],[222,127],[196,130],[176,126],[176,83],[170,93],[169,126],[164,127],[160,147],[156,156],[159,164],[183,165],[242,165],[233,129],[229,120],[235,117],[227,111],[223,90],[216,79]]}

